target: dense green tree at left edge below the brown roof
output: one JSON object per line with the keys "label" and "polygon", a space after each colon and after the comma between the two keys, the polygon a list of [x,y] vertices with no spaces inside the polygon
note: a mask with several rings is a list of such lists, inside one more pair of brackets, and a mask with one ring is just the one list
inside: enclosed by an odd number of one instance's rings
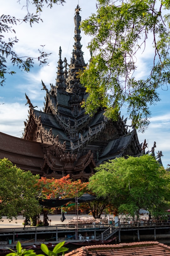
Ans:
{"label": "dense green tree at left edge below the brown roof", "polygon": [[32,175],[14,166],[8,159],[0,159],[0,219],[12,220],[23,212],[23,216],[34,216],[40,208],[36,200],[35,184],[39,175]]}

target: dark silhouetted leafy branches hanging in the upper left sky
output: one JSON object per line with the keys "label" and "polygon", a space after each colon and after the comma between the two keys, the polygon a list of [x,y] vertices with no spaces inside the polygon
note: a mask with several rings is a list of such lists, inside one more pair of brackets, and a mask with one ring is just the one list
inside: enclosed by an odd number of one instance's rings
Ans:
{"label": "dark silhouetted leafy branches hanging in the upper left sky", "polygon": [[[20,0],[18,1],[20,3]],[[43,11],[44,5],[52,8],[53,4],[63,4],[65,0],[33,0],[31,3],[35,5],[35,14],[30,13],[29,11],[29,1],[25,0],[25,7],[27,9],[26,15],[22,18],[16,18],[11,15],[1,15],[0,17],[0,85],[3,86],[5,82],[6,74],[15,74],[13,70],[10,70],[7,65],[7,59],[10,58],[11,64],[18,66],[19,69],[22,69],[26,72],[29,72],[33,67],[34,60],[37,59],[40,65],[48,64],[47,57],[51,53],[46,53],[43,49],[38,49],[38,57],[29,57],[29,56],[18,56],[16,52],[13,51],[14,45],[18,42],[16,37],[6,38],[6,34],[12,32],[15,34],[14,25],[18,25],[21,22],[29,22],[32,27],[33,23],[42,21],[40,15]]]}

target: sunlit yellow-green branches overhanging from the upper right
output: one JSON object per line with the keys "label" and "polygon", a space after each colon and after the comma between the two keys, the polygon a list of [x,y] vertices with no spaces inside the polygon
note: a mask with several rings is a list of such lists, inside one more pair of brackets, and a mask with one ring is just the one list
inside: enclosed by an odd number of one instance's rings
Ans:
{"label": "sunlit yellow-green branches overhanging from the upper right", "polygon": [[[91,61],[81,74],[89,93],[83,102],[86,112],[99,107],[105,116],[117,120],[122,107],[140,131],[149,124],[149,106],[160,101],[157,89],[170,82],[169,29],[170,1],[98,0],[97,14],[82,21]],[[154,47],[155,54],[147,77],[137,80],[138,56]],[[147,73],[148,72],[148,73]]]}

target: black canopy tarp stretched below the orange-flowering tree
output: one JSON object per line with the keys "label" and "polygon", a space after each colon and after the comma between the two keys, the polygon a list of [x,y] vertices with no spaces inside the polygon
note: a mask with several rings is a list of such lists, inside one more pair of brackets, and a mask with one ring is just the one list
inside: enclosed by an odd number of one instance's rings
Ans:
{"label": "black canopy tarp stretched below the orange-flowering tree", "polygon": [[[81,197],[78,198],[78,203],[85,203],[85,202],[91,202],[96,199],[96,196],[90,195],[88,193],[84,193]],[[65,199],[40,199],[39,204],[48,207],[48,208],[55,208],[55,207],[61,207],[65,204],[68,204],[69,202],[75,202],[76,198],[65,198]]]}

